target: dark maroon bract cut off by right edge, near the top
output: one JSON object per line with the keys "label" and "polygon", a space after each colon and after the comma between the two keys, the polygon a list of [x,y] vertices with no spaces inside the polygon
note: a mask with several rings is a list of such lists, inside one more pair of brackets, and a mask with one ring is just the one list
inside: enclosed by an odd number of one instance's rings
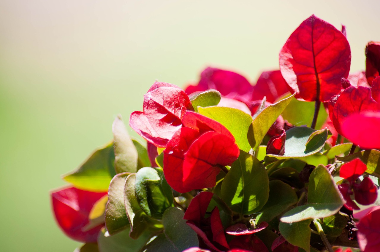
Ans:
{"label": "dark maroon bract cut off by right edge, near the top", "polygon": [[366,77],[369,85],[379,76],[380,72],[380,43],[369,42],[366,47]]}

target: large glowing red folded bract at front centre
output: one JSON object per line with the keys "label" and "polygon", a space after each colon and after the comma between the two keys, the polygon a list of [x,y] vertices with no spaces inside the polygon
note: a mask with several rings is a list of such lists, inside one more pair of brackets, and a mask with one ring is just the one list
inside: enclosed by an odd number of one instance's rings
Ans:
{"label": "large glowing red folded bract at front centre", "polygon": [[164,150],[164,174],[178,192],[213,187],[222,166],[231,165],[239,148],[222,124],[188,111]]}

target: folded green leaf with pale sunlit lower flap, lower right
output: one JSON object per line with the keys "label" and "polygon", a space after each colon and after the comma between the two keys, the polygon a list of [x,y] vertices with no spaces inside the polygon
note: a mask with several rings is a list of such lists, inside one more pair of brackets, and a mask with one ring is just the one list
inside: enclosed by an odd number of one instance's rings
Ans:
{"label": "folded green leaf with pale sunlit lower flap, lower right", "polygon": [[307,205],[291,209],[282,216],[281,221],[290,223],[331,216],[344,204],[331,174],[323,165],[318,165],[310,175],[307,200]]}

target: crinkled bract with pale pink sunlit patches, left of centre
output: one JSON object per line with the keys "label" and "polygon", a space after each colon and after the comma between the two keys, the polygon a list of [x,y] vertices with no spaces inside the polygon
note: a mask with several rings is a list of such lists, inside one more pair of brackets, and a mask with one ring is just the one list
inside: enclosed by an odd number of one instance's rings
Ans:
{"label": "crinkled bract with pale pink sunlit patches, left of centre", "polygon": [[144,112],[131,113],[129,125],[155,146],[165,147],[181,128],[187,109],[191,109],[191,102],[182,89],[173,84],[155,82],[144,95]]}

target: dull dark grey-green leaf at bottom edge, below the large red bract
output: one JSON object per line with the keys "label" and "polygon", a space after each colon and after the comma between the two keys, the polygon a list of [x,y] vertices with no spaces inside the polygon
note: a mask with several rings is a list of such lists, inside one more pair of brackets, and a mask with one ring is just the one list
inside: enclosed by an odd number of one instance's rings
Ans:
{"label": "dull dark grey-green leaf at bottom edge, below the large red bract", "polygon": [[164,233],[151,240],[144,252],[182,252],[189,247],[198,247],[198,236],[186,224],[184,213],[178,208],[168,208],[163,215]]}

